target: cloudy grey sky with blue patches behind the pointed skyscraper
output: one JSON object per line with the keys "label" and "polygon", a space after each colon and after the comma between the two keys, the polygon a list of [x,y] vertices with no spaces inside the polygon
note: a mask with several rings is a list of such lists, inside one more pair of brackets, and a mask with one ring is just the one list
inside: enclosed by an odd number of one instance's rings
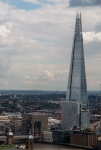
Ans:
{"label": "cloudy grey sky with blue patches behind the pointed skyscraper", "polygon": [[100,89],[101,0],[0,0],[0,89],[67,89],[77,11],[87,87]]}

